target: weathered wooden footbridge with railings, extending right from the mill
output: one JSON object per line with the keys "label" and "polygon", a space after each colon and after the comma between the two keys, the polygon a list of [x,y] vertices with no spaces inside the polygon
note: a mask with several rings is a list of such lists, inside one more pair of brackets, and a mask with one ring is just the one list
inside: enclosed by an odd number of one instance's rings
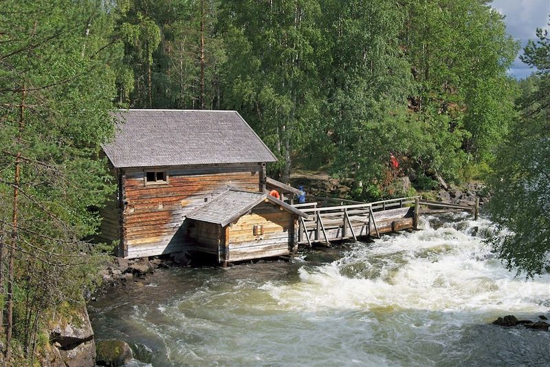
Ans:
{"label": "weathered wooden footbridge with railings, extending right from the mill", "polygon": [[308,244],[309,247],[316,243],[330,246],[331,241],[336,240],[373,236],[380,238],[382,233],[417,229],[421,213],[471,211],[477,219],[479,205],[478,200],[475,204],[472,202],[472,206],[463,206],[422,200],[421,196],[377,202],[323,200],[336,205],[321,207],[319,202],[293,205],[308,215],[298,222],[298,244]]}

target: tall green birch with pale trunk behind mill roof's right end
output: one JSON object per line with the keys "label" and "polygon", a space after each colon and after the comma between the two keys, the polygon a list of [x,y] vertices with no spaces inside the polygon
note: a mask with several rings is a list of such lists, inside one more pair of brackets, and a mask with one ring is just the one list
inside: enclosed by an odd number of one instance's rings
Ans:
{"label": "tall green birch with pale trunk behind mill roof's right end", "polygon": [[283,180],[292,151],[308,141],[320,117],[320,15],[314,0],[223,3],[225,105],[239,109],[281,158]]}

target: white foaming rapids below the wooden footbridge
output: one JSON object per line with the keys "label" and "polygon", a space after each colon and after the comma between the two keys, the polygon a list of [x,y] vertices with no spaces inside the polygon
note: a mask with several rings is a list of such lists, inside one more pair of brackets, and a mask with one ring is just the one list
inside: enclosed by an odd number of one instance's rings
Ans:
{"label": "white foaming rapids below the wooden footbridge", "polygon": [[[300,268],[295,284],[264,284],[284,308],[426,310],[467,313],[536,313],[550,308],[550,275],[514,277],[476,235],[494,231],[487,220],[456,216],[454,225],[386,235],[357,244],[325,266]],[[459,227],[456,229],[455,227]]]}

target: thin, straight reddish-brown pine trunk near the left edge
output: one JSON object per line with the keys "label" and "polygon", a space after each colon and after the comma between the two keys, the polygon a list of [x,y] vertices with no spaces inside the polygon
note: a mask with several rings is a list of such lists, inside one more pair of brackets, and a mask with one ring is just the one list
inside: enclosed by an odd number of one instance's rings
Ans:
{"label": "thin, straight reddish-brown pine trunk near the left edge", "polygon": [[13,187],[13,214],[12,214],[12,240],[10,243],[10,253],[8,255],[8,315],[7,326],[5,328],[5,357],[4,365],[6,361],[11,357],[11,343],[13,332],[13,273],[14,273],[14,258],[15,249],[17,247],[18,233],[18,220],[19,220],[19,184],[21,182],[21,143],[23,142],[23,114],[25,113],[25,87],[21,92],[21,106],[19,107],[19,132],[17,136],[17,143],[19,145],[17,155],[15,158],[15,174],[14,174],[14,187]]}

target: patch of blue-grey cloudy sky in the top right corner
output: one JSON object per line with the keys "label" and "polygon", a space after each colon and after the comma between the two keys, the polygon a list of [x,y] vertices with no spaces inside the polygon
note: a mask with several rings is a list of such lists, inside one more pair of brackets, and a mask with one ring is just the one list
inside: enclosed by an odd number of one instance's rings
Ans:
{"label": "patch of blue-grey cloudy sky in the top right corner", "polygon": [[[550,30],[550,0],[494,0],[491,6],[505,16],[508,33],[521,43],[520,54],[529,39],[536,39],[536,28]],[[519,55],[509,70],[518,79],[529,76],[531,72],[533,69],[522,63]]]}

